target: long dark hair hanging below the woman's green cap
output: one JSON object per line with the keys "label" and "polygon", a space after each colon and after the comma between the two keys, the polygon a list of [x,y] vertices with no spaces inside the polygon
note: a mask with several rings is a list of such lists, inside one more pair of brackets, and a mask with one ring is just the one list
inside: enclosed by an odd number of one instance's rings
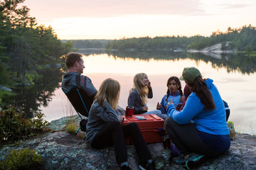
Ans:
{"label": "long dark hair hanging below the woman's green cap", "polygon": [[213,96],[206,86],[206,82],[200,77],[196,77],[193,84],[188,84],[191,87],[191,91],[196,93],[196,96],[200,98],[201,103],[205,106],[205,109],[210,111],[215,109],[215,103]]}

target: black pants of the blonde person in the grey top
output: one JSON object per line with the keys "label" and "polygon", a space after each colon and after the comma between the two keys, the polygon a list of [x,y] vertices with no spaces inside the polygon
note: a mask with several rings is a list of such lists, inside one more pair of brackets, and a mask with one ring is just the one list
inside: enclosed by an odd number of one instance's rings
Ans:
{"label": "black pants of the blonde person in the grey top", "polygon": [[151,159],[151,154],[137,123],[129,123],[124,126],[118,122],[107,123],[106,127],[95,135],[92,147],[102,149],[114,145],[117,164],[121,164],[127,162],[127,148],[124,142],[126,137],[132,137],[140,162]]}

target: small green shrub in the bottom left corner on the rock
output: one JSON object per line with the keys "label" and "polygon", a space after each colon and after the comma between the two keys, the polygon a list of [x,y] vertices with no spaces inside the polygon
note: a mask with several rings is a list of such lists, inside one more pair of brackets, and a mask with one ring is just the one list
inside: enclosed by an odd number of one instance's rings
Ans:
{"label": "small green shrub in the bottom left corner on the rock", "polygon": [[11,153],[4,157],[4,161],[0,162],[0,169],[2,170],[39,170],[44,169],[41,155],[36,154],[33,149],[17,149],[12,150]]}

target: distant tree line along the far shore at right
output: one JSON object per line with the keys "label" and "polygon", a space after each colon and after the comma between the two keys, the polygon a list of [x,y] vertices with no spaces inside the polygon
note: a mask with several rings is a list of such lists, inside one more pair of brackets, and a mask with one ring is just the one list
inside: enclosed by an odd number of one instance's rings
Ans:
{"label": "distant tree line along the far shore at right", "polygon": [[213,32],[210,37],[195,35],[164,36],[150,38],[122,38],[107,43],[107,50],[202,50],[205,47],[221,43],[221,50],[237,50],[245,52],[256,51],[256,28],[228,28],[225,33],[220,30]]}

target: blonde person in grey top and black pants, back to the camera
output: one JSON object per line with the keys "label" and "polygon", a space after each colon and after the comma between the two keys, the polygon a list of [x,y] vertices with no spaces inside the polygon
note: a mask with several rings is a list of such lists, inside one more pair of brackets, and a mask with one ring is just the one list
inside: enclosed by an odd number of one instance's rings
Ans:
{"label": "blonde person in grey top and black pants, back to the camera", "polygon": [[86,141],[95,149],[114,145],[117,164],[120,169],[130,169],[127,162],[127,148],[124,139],[132,137],[139,156],[140,169],[155,169],[149,149],[137,123],[122,126],[123,117],[117,111],[120,84],[114,79],[105,79],[90,108]]}

